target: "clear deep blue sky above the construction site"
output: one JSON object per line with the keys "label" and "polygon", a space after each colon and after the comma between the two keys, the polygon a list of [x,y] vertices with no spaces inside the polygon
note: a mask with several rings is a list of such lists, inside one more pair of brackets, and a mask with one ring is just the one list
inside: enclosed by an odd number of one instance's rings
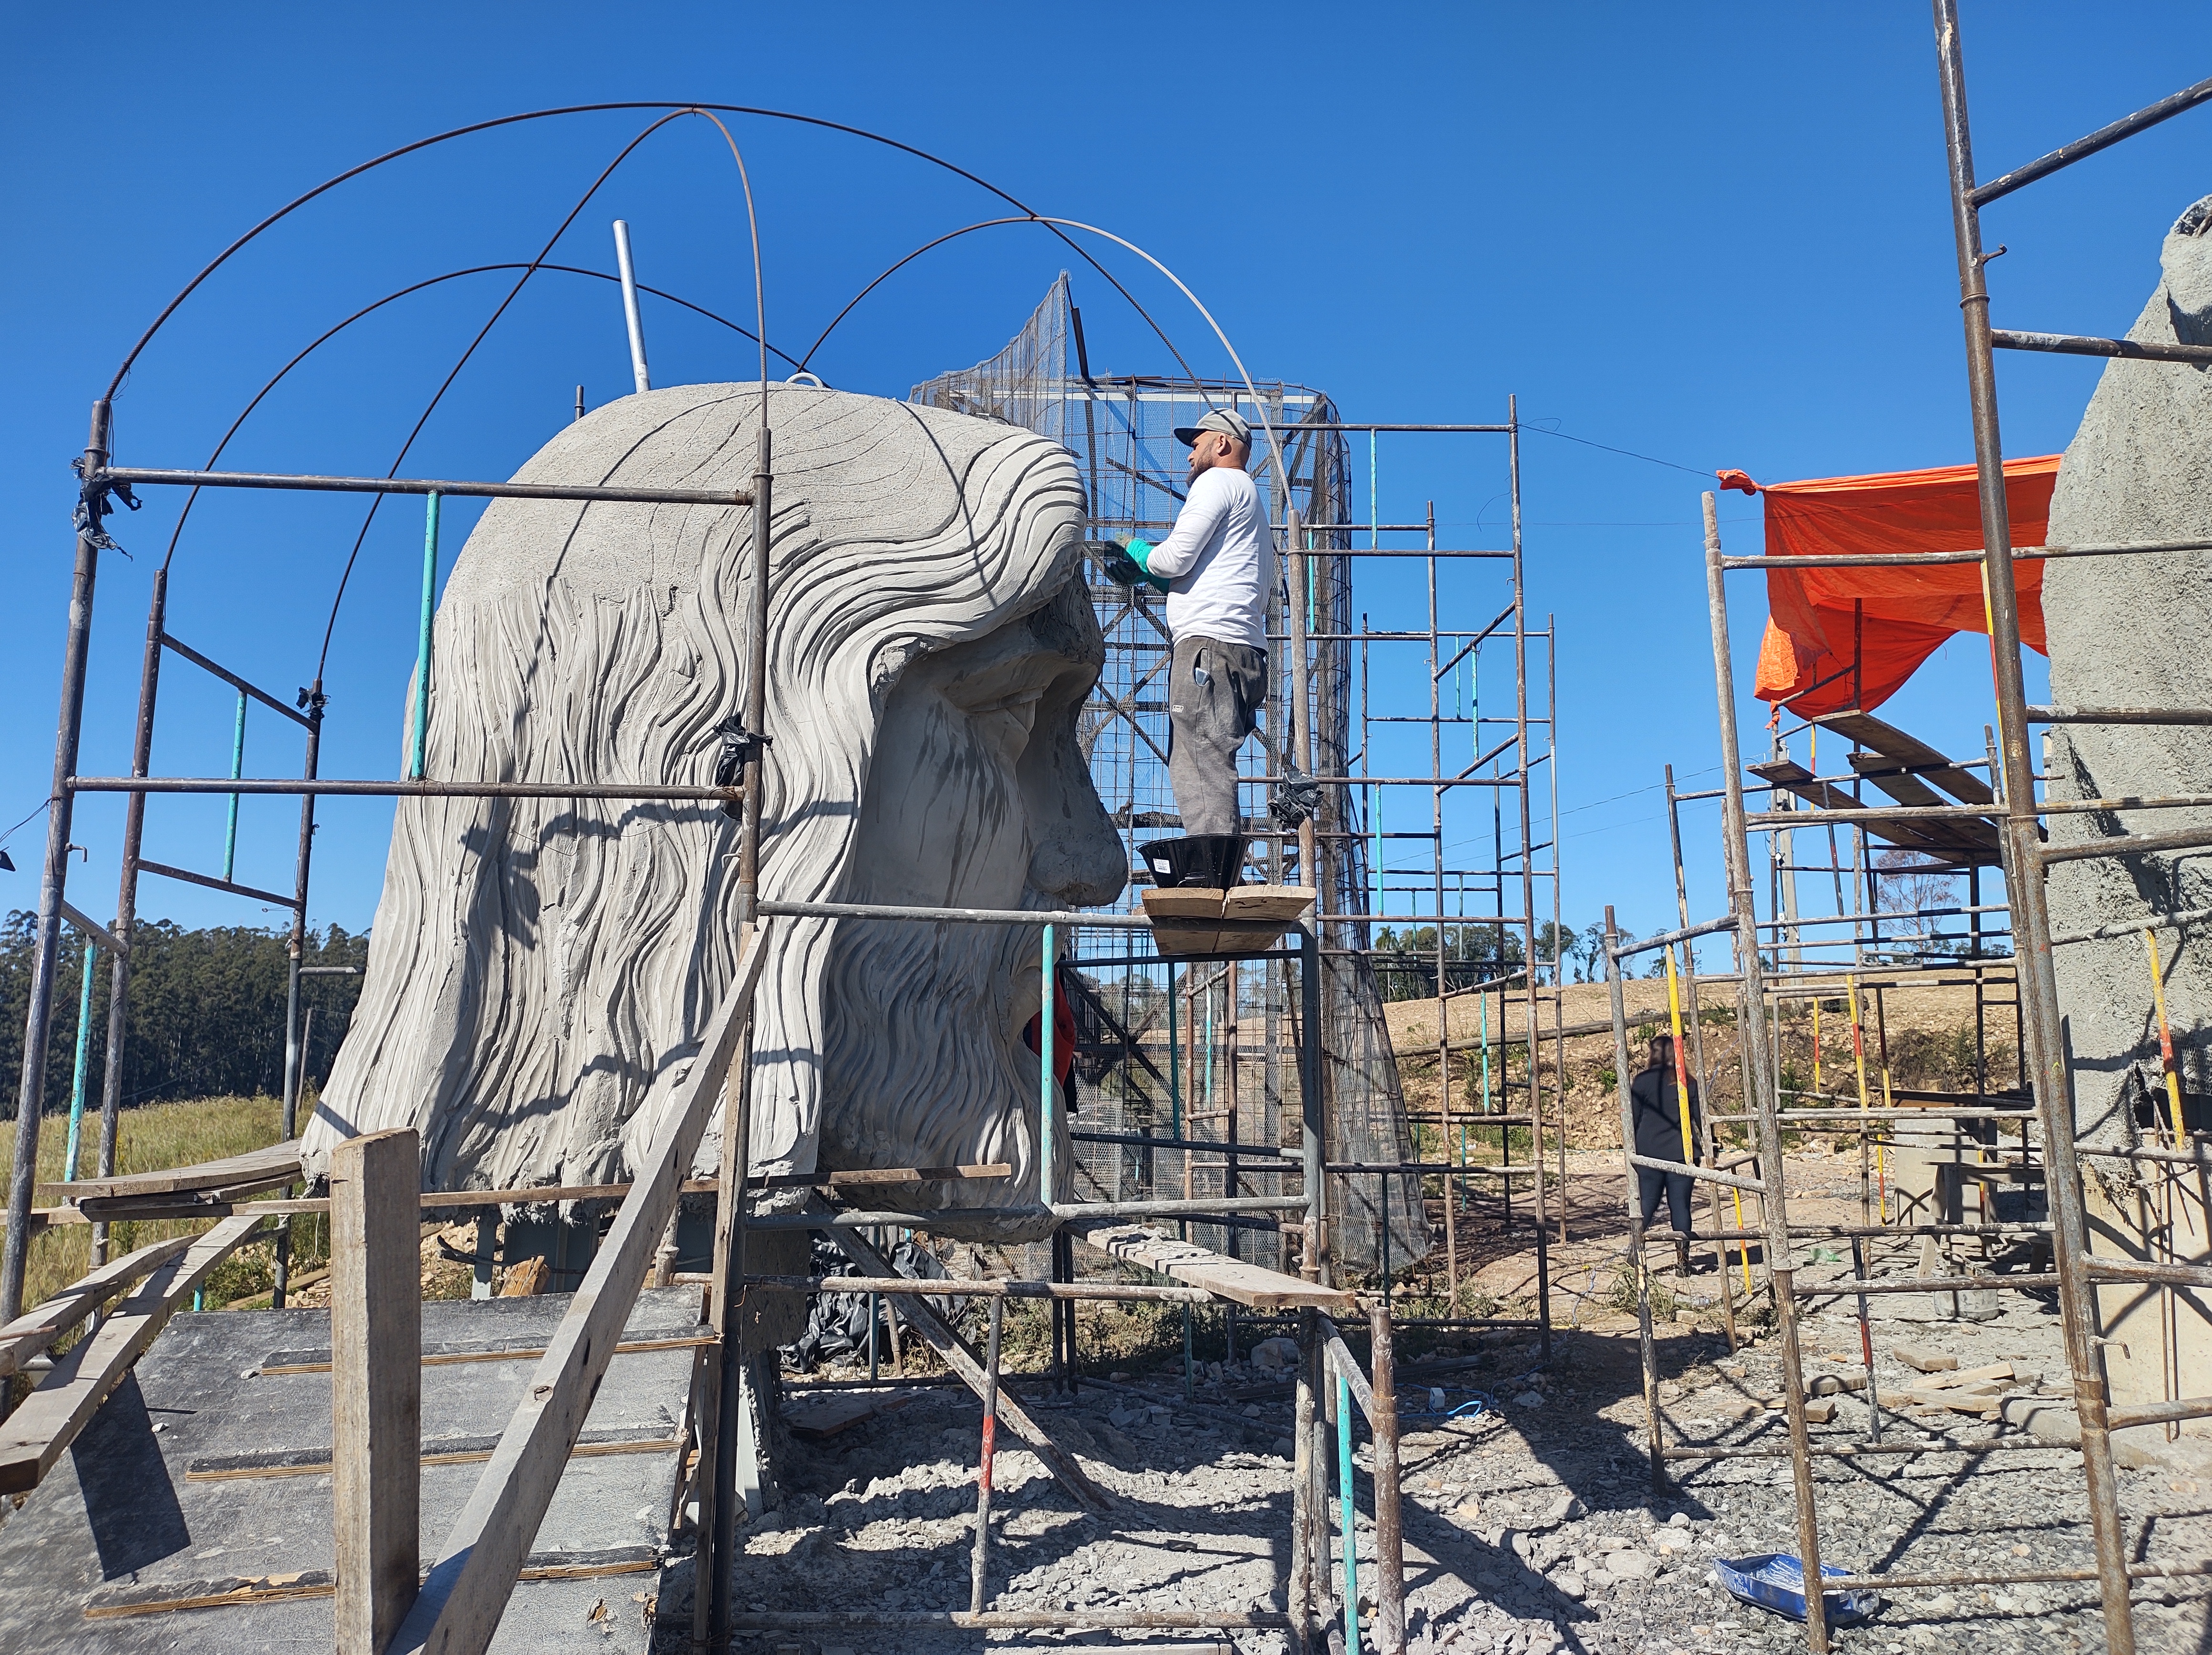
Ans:
{"label": "clear deep blue sky above the construction site", "polygon": [[[1256,374],[1325,387],[1349,418],[1493,420],[1524,447],[1528,595],[1559,617],[1566,916],[1615,903],[1639,931],[1672,918],[1659,766],[1717,781],[1697,473],[1761,480],[1971,458],[1929,13],[1893,7],[1190,7],[761,9],[540,4],[122,4],[88,53],[82,20],[13,11],[0,53],[0,569],[13,611],[0,686],[0,828],[53,761],[73,480],[86,409],[168,296],[254,219],[414,137],[522,108],[602,100],[763,104],[936,150],[1044,212],[1144,243],[1208,301]],[[1966,9],[1984,177],[2201,73],[2201,7]],[[422,277],[522,261],[650,115],[531,122],[440,146],[323,197],[257,241],[161,330],[117,400],[117,458],[201,465],[301,345]],[[1984,219],[1997,325],[2117,334],[2157,281],[2166,226],[2212,190],[2212,113],[2181,117],[2013,197]],[[891,150],[737,119],[761,206],[770,334],[812,341],[878,270],[993,217],[969,184]],[[697,119],[646,139],[555,259],[613,268],[626,217],[641,279],[750,316],[743,206],[721,137]],[[1172,290],[1108,263],[1201,372],[1228,358]],[[849,389],[902,396],[978,361],[1066,266],[1037,230],[967,237],[863,305],[818,358]],[[226,460],[380,471],[453,356],[504,294],[442,283],[319,352]],[[1157,341],[1077,268],[1099,369],[1166,367]],[[655,383],[737,378],[748,345],[648,303]],[[796,354],[796,350],[794,350]],[[2079,361],[2000,363],[2011,454],[2068,440],[2095,387]],[[407,471],[504,476],[571,412],[626,389],[619,303],[544,277],[425,427]],[[1557,436],[1548,436],[1555,431]],[[1562,438],[1582,438],[1562,440]],[[1613,454],[1604,447],[1628,449]],[[1646,456],[1646,458],[1630,458]],[[1385,438],[1385,518],[1433,500],[1447,544],[1495,544],[1498,445]],[[84,772],[128,768],[148,582],[177,491],[115,524],[102,564]],[[1365,507],[1365,502],[1363,502]],[[473,522],[449,507],[447,562]],[[290,695],[314,670],[358,502],[206,498],[177,555],[170,631]],[[1723,496],[1732,551],[1756,504]],[[325,774],[387,774],[411,666],[420,507],[369,531],[332,646]],[[1411,569],[1398,580],[1409,580]],[[1367,575],[1363,573],[1363,580]],[[1741,577],[1739,577],[1741,580]],[[1378,624],[1413,589],[1376,575]],[[1489,608],[1484,608],[1489,604]],[[1739,681],[1763,622],[1732,586]],[[1486,591],[1447,593],[1480,624]],[[1480,613],[1478,613],[1480,611]],[[1500,657],[1504,659],[1504,657]],[[1400,668],[1376,659],[1376,673]],[[1486,697],[1502,693],[1493,668]],[[1413,679],[1394,679],[1400,688]],[[2037,670],[2031,666],[2031,690]],[[1980,752],[1986,648],[1955,639],[1891,701],[1898,724]],[[1763,708],[1747,706],[1756,735]],[[230,695],[173,666],[155,770],[217,774]],[[248,774],[296,743],[257,712]],[[1710,810],[1710,808],[1708,808]],[[323,810],[314,923],[369,923],[389,803]],[[113,903],[122,805],[77,810],[73,896]],[[1712,816],[1690,816],[1692,905],[1721,905]],[[290,803],[248,801],[239,878],[285,887]],[[146,852],[215,867],[221,805],[159,801]],[[42,825],[7,841],[35,903]],[[188,925],[274,914],[146,881],[142,912]]]}

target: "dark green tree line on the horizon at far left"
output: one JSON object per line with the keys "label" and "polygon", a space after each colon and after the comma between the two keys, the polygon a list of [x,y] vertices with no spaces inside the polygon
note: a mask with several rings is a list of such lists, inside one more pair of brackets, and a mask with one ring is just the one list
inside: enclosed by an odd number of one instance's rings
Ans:
{"label": "dark green tree line on the horizon at far left", "polygon": [[[13,1120],[22,1095],[22,1040],[31,1009],[31,965],[38,916],[20,909],[0,920],[0,1120]],[[53,1035],[46,1047],[44,1108],[66,1111],[75,1073],[77,1013],[84,985],[84,936],[62,927],[53,989]],[[367,931],[343,925],[307,931],[301,965],[363,967]],[[93,1007],[86,1024],[86,1106],[100,1106],[108,1042],[113,958],[97,951]],[[250,1097],[283,1091],[285,934],[246,925],[188,931],[168,920],[142,920],[131,938],[131,1000],[124,1016],[124,1104],[175,1097]],[[361,976],[303,976],[301,1016],[307,1029],[305,1075],[323,1080],[361,998]]]}

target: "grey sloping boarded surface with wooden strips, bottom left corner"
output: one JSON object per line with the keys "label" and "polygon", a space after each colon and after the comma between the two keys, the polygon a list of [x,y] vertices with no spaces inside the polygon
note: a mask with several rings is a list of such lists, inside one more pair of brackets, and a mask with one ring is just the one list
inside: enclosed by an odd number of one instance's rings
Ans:
{"label": "grey sloping boarded surface with wooden strips, bottom left corner", "polygon": [[[425,1350],[535,1347],[566,1305],[564,1294],[431,1301],[422,1305]],[[697,1288],[648,1292],[626,1336],[690,1332],[697,1308]],[[327,1370],[261,1372],[327,1361],[327,1345],[330,1314],[321,1310],[177,1316],[75,1449],[0,1522],[0,1648],[11,1655],[327,1648],[327,1595],[159,1615],[97,1613],[197,1595],[239,1578],[332,1569],[330,1474],[190,1476],[226,1469],[239,1456],[327,1449]],[[498,1438],[531,1370],[531,1361],[427,1365],[425,1445]],[[690,1350],[615,1356],[586,1440],[672,1436],[688,1381]],[[480,1471],[480,1463],[422,1469],[425,1560],[436,1555]],[[644,1571],[518,1586],[493,1648],[535,1655],[588,1642],[644,1651],[646,1606],[633,1593],[650,1597],[659,1589],[655,1564],[672,1478],[672,1451],[571,1460],[533,1555],[633,1562]]]}

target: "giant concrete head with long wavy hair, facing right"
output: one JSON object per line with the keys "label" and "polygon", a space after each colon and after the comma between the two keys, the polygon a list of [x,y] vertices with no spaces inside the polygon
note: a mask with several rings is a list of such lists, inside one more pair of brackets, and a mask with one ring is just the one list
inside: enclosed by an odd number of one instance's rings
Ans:
{"label": "giant concrete head with long wavy hair, facing right", "polygon": [[[745,487],[757,385],[613,403],[522,480]],[[1075,746],[1104,659],[1071,458],[993,420],[774,387],[761,894],[1068,907],[1126,856]],[[745,704],[748,509],[500,500],[438,606],[429,774],[699,783]],[[699,803],[409,799],[307,1131],[416,1126],[427,1188],[619,1182],[737,967],[737,823]],[[752,1164],[1011,1162],[909,1208],[1033,1228],[1037,931],[779,920]],[[719,1159],[719,1122],[699,1151]],[[1066,1157],[1060,1159],[1068,1164]],[[872,1197],[874,1199],[874,1197]]]}

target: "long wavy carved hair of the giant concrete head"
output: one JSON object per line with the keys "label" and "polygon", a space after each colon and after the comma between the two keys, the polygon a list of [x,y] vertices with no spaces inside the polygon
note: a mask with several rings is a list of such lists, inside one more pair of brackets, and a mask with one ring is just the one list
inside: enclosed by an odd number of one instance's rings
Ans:
{"label": "long wavy carved hair of the giant concrete head", "polygon": [[[757,414],[754,385],[630,396],[518,476],[739,489]],[[770,416],[763,896],[836,901],[885,695],[916,657],[1051,602],[1084,502],[1064,449],[989,420],[803,387],[774,387]],[[491,504],[438,608],[429,774],[710,779],[712,730],[745,701],[750,522]],[[619,1179],[732,980],[734,852],[706,803],[400,801],[310,1166],[416,1126],[427,1188]],[[832,925],[772,934],[752,1133],[770,1170],[814,1164]],[[717,1157],[719,1128],[699,1162]]]}

